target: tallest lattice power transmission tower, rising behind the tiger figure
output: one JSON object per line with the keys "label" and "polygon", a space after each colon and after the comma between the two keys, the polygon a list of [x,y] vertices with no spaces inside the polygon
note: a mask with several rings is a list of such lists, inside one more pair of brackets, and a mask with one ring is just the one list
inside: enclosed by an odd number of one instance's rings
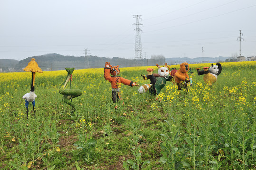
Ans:
{"label": "tallest lattice power transmission tower, rising behind the tiger figure", "polygon": [[142,29],[140,29],[140,25],[142,25],[141,23],[139,23],[139,19],[142,19],[141,16],[142,15],[133,15],[136,18],[136,29],[134,29],[136,31],[136,40],[135,40],[135,59],[140,59],[142,61],[142,42],[141,42],[141,32]]}

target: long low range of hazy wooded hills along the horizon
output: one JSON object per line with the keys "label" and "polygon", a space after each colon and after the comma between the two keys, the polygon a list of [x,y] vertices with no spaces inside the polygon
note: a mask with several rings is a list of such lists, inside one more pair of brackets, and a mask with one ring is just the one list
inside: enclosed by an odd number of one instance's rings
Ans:
{"label": "long low range of hazy wooded hills along the horizon", "polygon": [[[73,68],[76,69],[85,69],[85,68],[104,68],[105,62],[110,62],[111,65],[119,67],[132,67],[132,66],[155,66],[156,64],[163,65],[167,62],[168,65],[180,64],[182,62],[192,63],[200,63],[202,62],[202,57],[198,58],[166,58],[164,60],[157,59],[124,59],[119,57],[106,58],[106,57],[97,57],[97,56],[63,56],[60,54],[45,54],[40,56],[33,56],[23,59],[21,61],[17,61],[14,59],[0,59],[0,69],[2,68],[2,72],[13,72],[13,71],[23,71],[32,58],[36,59],[38,66],[43,71],[54,71],[54,70],[64,70],[65,68]],[[224,62],[228,57],[219,57],[219,62]],[[215,63],[217,62],[217,57],[204,57],[205,63]]]}

